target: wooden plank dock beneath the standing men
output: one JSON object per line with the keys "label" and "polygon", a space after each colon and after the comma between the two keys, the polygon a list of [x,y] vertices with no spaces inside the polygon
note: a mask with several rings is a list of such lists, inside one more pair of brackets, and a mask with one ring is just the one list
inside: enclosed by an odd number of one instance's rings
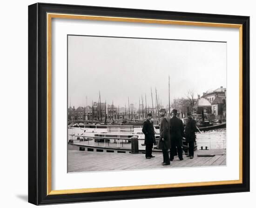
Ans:
{"label": "wooden plank dock beneath the standing men", "polygon": [[[68,150],[68,172],[161,169],[226,165],[225,150],[196,150],[193,159],[183,154],[180,161],[175,156],[171,165],[162,166],[162,153],[154,152],[154,158],[146,159],[145,154],[90,152]],[[200,154],[215,154],[215,156],[197,156]],[[223,155],[222,155],[223,154]]]}

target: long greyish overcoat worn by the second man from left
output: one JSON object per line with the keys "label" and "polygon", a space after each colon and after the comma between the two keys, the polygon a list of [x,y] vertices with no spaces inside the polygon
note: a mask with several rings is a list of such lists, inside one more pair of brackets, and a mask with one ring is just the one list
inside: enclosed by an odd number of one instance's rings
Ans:
{"label": "long greyish overcoat worn by the second man from left", "polygon": [[[162,138],[164,141],[162,141]],[[170,140],[170,119],[168,117],[162,117],[160,122],[160,138],[157,144],[159,150],[168,150],[171,148]]]}

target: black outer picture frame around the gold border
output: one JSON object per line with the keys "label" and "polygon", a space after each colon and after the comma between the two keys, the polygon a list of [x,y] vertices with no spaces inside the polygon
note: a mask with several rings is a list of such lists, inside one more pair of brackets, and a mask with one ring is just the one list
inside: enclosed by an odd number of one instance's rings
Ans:
{"label": "black outer picture frame around the gold border", "polygon": [[[242,183],[48,195],[47,13],[113,16],[243,25]],[[28,6],[28,202],[35,205],[219,194],[249,191],[249,17],[36,3]]]}

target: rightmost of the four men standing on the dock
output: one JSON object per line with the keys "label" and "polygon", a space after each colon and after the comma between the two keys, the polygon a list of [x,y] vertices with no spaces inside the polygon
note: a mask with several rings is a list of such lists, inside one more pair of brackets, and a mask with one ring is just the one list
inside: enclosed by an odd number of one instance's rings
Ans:
{"label": "rightmost of the four men standing on the dock", "polygon": [[194,147],[195,147],[195,131],[196,129],[196,123],[195,120],[191,117],[191,113],[188,113],[188,121],[185,127],[185,138],[186,142],[189,144],[189,155],[187,157],[190,157],[190,159],[193,159],[194,157]]}

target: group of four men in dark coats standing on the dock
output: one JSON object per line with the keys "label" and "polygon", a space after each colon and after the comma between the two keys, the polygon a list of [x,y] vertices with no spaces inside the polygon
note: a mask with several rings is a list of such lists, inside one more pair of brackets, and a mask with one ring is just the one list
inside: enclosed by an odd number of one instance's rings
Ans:
{"label": "group of four men in dark coats standing on the dock", "polygon": [[[172,110],[173,117],[167,117],[166,110],[162,108],[160,110],[161,121],[160,121],[160,138],[157,143],[157,149],[162,150],[163,162],[162,165],[170,165],[170,161],[173,161],[174,156],[177,154],[180,160],[183,160],[182,156],[182,139],[186,138],[186,145],[189,146],[189,154],[187,155],[190,159],[194,157],[194,142],[195,142],[195,131],[196,123],[191,117],[191,113],[188,113],[188,121],[184,130],[184,125],[181,119],[177,117],[177,110]],[[155,129],[153,122],[151,121],[152,114],[148,113],[147,120],[143,123],[142,132],[145,135],[146,145],[146,159],[151,159],[152,148],[156,144],[155,141]],[[168,154],[170,150],[170,156]]]}

